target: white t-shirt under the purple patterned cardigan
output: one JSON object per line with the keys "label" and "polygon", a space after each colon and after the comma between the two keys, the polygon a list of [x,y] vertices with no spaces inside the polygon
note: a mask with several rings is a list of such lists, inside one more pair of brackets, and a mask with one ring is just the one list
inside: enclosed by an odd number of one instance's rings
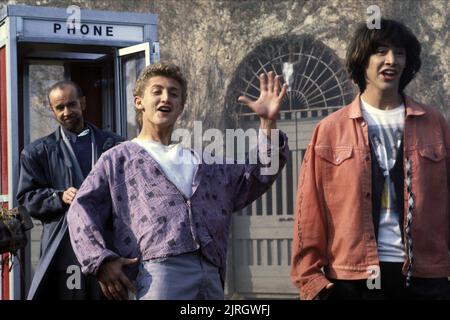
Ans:
{"label": "white t-shirt under the purple patterned cardigan", "polygon": [[166,146],[152,140],[135,138],[132,141],[147,150],[166,177],[186,198],[192,196],[192,182],[199,164],[199,159],[193,151],[183,148],[179,143]]}

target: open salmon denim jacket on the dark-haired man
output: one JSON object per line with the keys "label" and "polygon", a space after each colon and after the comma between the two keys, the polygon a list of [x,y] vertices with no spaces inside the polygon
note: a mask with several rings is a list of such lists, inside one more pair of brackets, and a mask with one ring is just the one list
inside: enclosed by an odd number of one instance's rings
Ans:
{"label": "open salmon denim jacket on the dark-haired man", "polygon": [[[450,128],[437,109],[404,102],[403,273],[447,277]],[[358,95],[319,122],[302,164],[291,270],[301,299],[315,298],[332,279],[367,279],[379,266],[371,161]]]}

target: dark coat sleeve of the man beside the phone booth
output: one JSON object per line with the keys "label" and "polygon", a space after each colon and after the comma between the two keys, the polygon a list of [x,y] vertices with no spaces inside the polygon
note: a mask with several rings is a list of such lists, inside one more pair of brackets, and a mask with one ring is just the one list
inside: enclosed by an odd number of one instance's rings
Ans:
{"label": "dark coat sleeve of the man beside the phone booth", "polygon": [[20,157],[20,176],[17,201],[35,219],[48,220],[64,214],[67,206],[62,202],[58,190],[51,186],[46,153],[38,148],[25,149]]}

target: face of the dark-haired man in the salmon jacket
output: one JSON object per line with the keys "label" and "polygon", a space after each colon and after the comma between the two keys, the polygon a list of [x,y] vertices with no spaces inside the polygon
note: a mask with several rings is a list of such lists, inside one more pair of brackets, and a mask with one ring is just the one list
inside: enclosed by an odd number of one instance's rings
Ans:
{"label": "face of the dark-haired man in the salmon jacket", "polygon": [[404,48],[379,46],[369,57],[365,71],[366,89],[397,94],[405,64]]}

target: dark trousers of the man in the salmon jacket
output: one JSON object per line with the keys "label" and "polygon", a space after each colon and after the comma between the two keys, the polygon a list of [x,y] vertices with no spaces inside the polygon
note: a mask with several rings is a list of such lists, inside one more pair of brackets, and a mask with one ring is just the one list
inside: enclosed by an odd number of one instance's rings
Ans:
{"label": "dark trousers of the man in the salmon jacket", "polygon": [[[381,286],[369,289],[367,280],[330,279],[334,287],[329,300],[450,300],[450,282],[447,278],[410,279],[402,275],[402,263],[381,262]],[[371,284],[374,282],[369,280]]]}

